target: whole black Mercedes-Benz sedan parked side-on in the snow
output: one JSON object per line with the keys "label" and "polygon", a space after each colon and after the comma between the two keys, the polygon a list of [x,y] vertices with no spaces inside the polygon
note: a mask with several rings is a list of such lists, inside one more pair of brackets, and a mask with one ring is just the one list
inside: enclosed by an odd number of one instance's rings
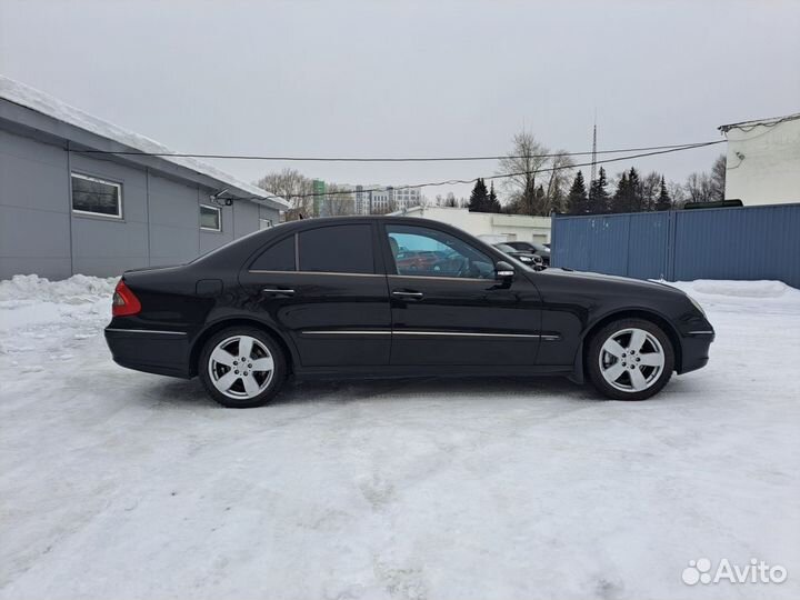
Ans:
{"label": "whole black Mercedes-Benz sedan parked side-on in the snow", "polygon": [[673,371],[703,367],[714,338],[676,288],[536,271],[404,217],[293,221],[188,264],[127,271],[112,312],[114,361],[199,376],[236,408],[267,403],[289,374],[560,374],[643,400]]}

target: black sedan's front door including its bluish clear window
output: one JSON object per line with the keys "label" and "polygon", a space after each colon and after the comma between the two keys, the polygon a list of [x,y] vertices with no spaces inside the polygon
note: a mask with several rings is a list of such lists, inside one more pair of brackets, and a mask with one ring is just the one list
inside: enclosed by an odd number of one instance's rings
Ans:
{"label": "black sedan's front door including its bluish clear window", "polygon": [[[494,278],[496,260],[434,226],[381,223],[391,319],[391,364],[534,364],[541,310],[522,273]],[[396,260],[408,252],[436,260]]]}

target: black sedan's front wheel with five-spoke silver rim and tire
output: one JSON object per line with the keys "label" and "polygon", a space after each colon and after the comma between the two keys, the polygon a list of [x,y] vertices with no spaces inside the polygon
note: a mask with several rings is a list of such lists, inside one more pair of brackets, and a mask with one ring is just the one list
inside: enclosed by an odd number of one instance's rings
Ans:
{"label": "black sedan's front wheel with five-spoke silver rim and tire", "polygon": [[669,336],[644,319],[620,319],[589,342],[587,371],[592,384],[612,400],[646,400],[672,377],[674,350]]}

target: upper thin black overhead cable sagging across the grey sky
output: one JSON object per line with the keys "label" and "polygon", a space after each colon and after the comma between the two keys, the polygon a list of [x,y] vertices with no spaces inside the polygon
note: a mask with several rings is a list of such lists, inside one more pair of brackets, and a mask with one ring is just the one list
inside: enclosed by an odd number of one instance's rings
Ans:
{"label": "upper thin black overhead cable sagging across the grey sky", "polygon": [[[700,144],[722,143],[726,140],[709,142],[677,143],[669,146],[649,146],[643,148],[617,148],[612,150],[597,150],[598,154],[618,154],[622,152],[646,152],[651,150],[681,149]],[[498,154],[479,157],[273,157],[259,154],[194,154],[182,152],[147,152],[143,150],[70,150],[82,154],[114,154],[131,157],[158,157],[158,158],[196,158],[196,159],[230,159],[230,160],[269,160],[287,162],[458,162],[502,159],[537,159],[557,157],[586,157],[593,151],[586,152],[549,152],[542,154]]]}

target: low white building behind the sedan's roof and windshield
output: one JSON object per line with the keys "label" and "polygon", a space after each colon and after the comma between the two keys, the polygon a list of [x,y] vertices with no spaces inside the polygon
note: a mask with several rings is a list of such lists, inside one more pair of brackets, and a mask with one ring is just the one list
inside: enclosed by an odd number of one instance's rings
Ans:
{"label": "low white building behind the sedan's roof and windshield", "polygon": [[393,214],[433,219],[479,237],[490,243],[503,241],[550,242],[550,217],[470,212],[466,208],[412,207]]}

